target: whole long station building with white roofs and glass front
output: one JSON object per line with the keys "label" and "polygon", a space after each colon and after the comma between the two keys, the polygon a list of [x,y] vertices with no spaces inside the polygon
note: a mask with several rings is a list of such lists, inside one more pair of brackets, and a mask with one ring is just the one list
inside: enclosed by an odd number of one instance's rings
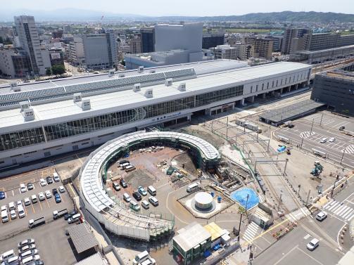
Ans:
{"label": "whole long station building with white roofs and glass front", "polygon": [[18,92],[2,85],[0,168],[188,122],[194,112],[232,110],[310,78],[310,65],[301,63],[246,65],[210,60],[18,84]]}

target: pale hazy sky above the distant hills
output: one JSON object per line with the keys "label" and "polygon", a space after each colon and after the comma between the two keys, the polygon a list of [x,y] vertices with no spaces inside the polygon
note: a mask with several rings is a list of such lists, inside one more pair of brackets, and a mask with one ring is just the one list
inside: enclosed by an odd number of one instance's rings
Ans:
{"label": "pale hazy sky above the distant hills", "polygon": [[0,0],[7,10],[48,11],[80,8],[108,13],[148,16],[163,15],[243,15],[278,11],[318,11],[354,14],[354,0]]}

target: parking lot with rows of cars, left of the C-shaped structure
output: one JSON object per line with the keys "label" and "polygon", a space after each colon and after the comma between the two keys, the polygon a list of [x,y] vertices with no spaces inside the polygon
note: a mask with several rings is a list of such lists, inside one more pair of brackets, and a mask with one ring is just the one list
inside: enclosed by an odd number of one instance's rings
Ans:
{"label": "parking lot with rows of cars, left of the C-shaped structure", "polygon": [[[53,219],[53,211],[61,209],[72,209],[72,200],[68,195],[68,192],[65,190],[64,193],[60,193],[61,202],[56,203],[56,200],[52,194],[51,198],[44,198],[44,200],[38,200],[37,203],[30,203],[30,205],[24,205],[24,199],[30,198],[31,195],[37,195],[38,193],[45,192],[49,190],[52,193],[52,189],[58,189],[59,186],[63,186],[61,181],[47,184],[46,186],[41,186],[39,184],[39,179],[46,179],[46,176],[53,176],[53,169],[44,169],[36,172],[30,172],[28,174],[21,174],[19,176],[11,176],[7,179],[0,180],[1,190],[4,190],[6,193],[6,198],[0,200],[0,205],[8,205],[10,202],[16,202],[21,200],[25,209],[25,217],[19,218],[17,211],[16,218],[11,219],[9,215],[9,221],[6,223],[0,224],[0,238],[9,238],[13,235],[25,231],[28,228],[28,221],[30,219],[37,219],[44,216],[46,221]],[[32,190],[27,190],[24,193],[20,191],[20,183],[27,185],[28,182],[33,183],[34,188]]]}

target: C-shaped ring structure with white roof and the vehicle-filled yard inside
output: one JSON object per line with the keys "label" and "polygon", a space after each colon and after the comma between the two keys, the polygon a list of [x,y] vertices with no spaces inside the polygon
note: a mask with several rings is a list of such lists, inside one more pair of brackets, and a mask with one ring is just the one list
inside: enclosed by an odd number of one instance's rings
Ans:
{"label": "C-shaped ring structure with white roof and the vehicle-filled yard inside", "polygon": [[[187,176],[192,176],[188,171],[198,174],[219,161],[219,152],[196,136],[168,131],[125,134],[89,155],[80,171],[80,196],[108,231],[154,240],[175,226],[175,216],[163,205],[163,187],[181,179],[186,185]],[[198,203],[208,205],[205,200]]]}

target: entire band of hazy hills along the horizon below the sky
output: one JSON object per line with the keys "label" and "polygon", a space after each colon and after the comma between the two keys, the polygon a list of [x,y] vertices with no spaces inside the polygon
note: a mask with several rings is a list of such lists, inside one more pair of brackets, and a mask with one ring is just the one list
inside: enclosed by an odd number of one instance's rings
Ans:
{"label": "entire band of hazy hills along the horizon below the sky", "polygon": [[105,20],[139,20],[151,22],[167,21],[246,21],[246,22],[354,22],[353,14],[322,13],[322,12],[272,12],[249,13],[246,15],[217,15],[217,16],[162,16],[151,17],[146,15],[108,13],[89,11],[75,8],[63,8],[53,11],[38,11],[26,9],[0,10],[0,21],[13,21],[13,15],[34,15],[36,21],[99,21],[102,15]]}

